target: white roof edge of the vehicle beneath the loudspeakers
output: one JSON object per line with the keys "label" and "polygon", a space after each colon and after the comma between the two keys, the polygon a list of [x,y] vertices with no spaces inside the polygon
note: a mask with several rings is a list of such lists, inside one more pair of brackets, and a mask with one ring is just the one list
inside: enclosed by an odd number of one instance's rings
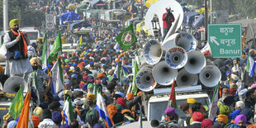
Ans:
{"label": "white roof edge of the vehicle beneath the loudspeakers", "polygon": [[[199,98],[199,97],[209,97],[209,95],[206,92],[197,92],[197,93],[177,93],[176,94],[176,100],[183,100],[187,99],[189,97],[192,98]],[[149,98],[149,102],[166,102],[169,99],[169,94],[164,95],[154,95]]]}

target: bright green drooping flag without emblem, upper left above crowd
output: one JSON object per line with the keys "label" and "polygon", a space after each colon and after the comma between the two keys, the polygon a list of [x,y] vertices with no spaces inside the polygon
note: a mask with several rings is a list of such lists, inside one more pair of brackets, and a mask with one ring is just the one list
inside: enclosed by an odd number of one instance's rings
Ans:
{"label": "bright green drooping flag without emblem, upper left above crowd", "polygon": [[58,32],[58,36],[55,39],[55,43],[50,51],[50,55],[48,57],[48,61],[52,62],[55,59],[57,59],[58,56],[58,52],[62,50],[62,45],[61,45],[61,35],[60,35],[60,31]]}

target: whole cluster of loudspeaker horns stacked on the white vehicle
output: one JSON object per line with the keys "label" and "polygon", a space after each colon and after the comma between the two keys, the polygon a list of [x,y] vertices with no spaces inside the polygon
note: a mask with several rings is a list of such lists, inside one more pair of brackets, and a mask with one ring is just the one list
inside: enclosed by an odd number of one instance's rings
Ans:
{"label": "whole cluster of loudspeaker horns stacked on the white vehicle", "polygon": [[197,40],[187,32],[174,35],[174,45],[160,44],[158,40],[145,44],[145,64],[135,76],[137,87],[149,92],[158,84],[171,85],[173,80],[178,86],[194,86],[199,80],[206,87],[216,86],[221,78],[220,69],[214,64],[206,64],[205,56],[197,50]]}

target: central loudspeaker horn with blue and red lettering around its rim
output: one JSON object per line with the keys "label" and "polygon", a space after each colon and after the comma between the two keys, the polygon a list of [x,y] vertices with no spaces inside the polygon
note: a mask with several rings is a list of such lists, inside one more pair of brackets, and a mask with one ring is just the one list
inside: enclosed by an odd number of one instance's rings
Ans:
{"label": "central loudspeaker horn with blue and red lettering around its rim", "polygon": [[172,69],[180,69],[187,63],[187,52],[182,47],[175,46],[165,55],[165,61]]}

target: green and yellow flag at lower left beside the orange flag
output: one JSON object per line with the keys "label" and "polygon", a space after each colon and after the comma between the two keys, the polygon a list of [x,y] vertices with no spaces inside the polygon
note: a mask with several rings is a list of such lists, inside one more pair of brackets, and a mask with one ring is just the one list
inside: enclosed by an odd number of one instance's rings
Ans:
{"label": "green and yellow flag at lower left beside the orange flag", "polygon": [[22,88],[20,88],[19,91],[16,93],[15,97],[13,98],[11,106],[9,108],[9,114],[14,120],[16,120],[18,116],[20,116],[23,102],[23,90]]}

